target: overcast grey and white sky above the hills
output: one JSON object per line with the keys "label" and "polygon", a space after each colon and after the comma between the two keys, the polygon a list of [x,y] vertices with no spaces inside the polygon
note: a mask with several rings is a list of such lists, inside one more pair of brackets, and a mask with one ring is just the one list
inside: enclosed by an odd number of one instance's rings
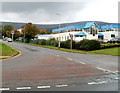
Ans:
{"label": "overcast grey and white sky above the hills", "polygon": [[61,15],[61,23],[78,21],[117,23],[118,1],[22,2],[21,0],[21,2],[2,2],[2,17],[0,17],[0,21],[56,24],[59,22],[56,13],[59,13]]}

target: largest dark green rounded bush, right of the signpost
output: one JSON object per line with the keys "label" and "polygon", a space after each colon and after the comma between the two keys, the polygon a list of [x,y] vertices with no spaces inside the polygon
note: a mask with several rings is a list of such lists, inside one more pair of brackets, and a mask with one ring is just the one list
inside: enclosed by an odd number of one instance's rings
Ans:
{"label": "largest dark green rounded bush, right of the signpost", "polygon": [[84,39],[78,42],[77,48],[82,50],[97,50],[100,49],[100,42],[97,40]]}

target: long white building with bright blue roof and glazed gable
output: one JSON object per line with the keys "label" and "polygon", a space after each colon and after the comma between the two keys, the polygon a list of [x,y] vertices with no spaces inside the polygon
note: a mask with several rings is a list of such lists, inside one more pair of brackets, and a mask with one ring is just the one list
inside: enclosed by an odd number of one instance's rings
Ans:
{"label": "long white building with bright blue roof and glazed gable", "polygon": [[59,29],[53,29],[52,34],[37,35],[38,39],[50,39],[66,41],[72,39],[80,41],[83,39],[113,39],[119,36],[120,24],[98,25],[88,22],[85,25],[70,25]]}

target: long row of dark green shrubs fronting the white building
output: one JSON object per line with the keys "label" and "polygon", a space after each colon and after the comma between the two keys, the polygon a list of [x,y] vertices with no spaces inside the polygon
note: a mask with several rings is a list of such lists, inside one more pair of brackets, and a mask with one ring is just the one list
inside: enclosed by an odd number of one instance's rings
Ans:
{"label": "long row of dark green shrubs fronting the white building", "polygon": [[[55,39],[35,40],[34,44],[58,47],[58,41]],[[61,48],[70,49],[71,40],[61,41],[60,46],[61,46]],[[100,42],[97,40],[88,40],[88,39],[84,39],[79,42],[72,41],[72,49],[80,49],[80,50],[87,50],[87,51],[110,48],[110,47],[119,47],[119,46],[120,46],[120,44],[118,44],[118,43],[117,44],[115,44],[115,43],[100,44]]]}

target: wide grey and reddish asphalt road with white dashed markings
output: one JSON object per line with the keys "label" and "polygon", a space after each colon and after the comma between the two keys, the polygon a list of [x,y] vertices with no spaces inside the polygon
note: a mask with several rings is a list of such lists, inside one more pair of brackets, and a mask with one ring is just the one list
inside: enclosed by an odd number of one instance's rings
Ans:
{"label": "wide grey and reddish asphalt road with white dashed markings", "polygon": [[3,42],[19,51],[2,61],[2,88],[18,91],[118,91],[118,57]]}

